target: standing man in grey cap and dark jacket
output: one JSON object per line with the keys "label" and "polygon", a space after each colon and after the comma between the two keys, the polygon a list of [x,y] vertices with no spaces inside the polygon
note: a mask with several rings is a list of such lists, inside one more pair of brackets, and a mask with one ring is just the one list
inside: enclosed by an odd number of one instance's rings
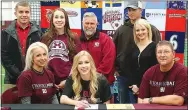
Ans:
{"label": "standing man in grey cap and dark jacket", "polygon": [[[130,1],[127,5],[128,17],[124,24],[120,26],[114,36],[113,40],[116,46],[116,71],[119,81],[119,95],[120,103],[134,103],[131,95],[129,97],[129,92],[131,93],[130,85],[130,62],[131,62],[131,52],[135,45],[133,37],[133,26],[136,20],[142,17],[142,3],[140,1]],[[152,30],[152,40],[158,43],[161,40],[159,30],[151,25]],[[129,90],[130,89],[130,90]],[[133,95],[132,95],[133,96]]]}

